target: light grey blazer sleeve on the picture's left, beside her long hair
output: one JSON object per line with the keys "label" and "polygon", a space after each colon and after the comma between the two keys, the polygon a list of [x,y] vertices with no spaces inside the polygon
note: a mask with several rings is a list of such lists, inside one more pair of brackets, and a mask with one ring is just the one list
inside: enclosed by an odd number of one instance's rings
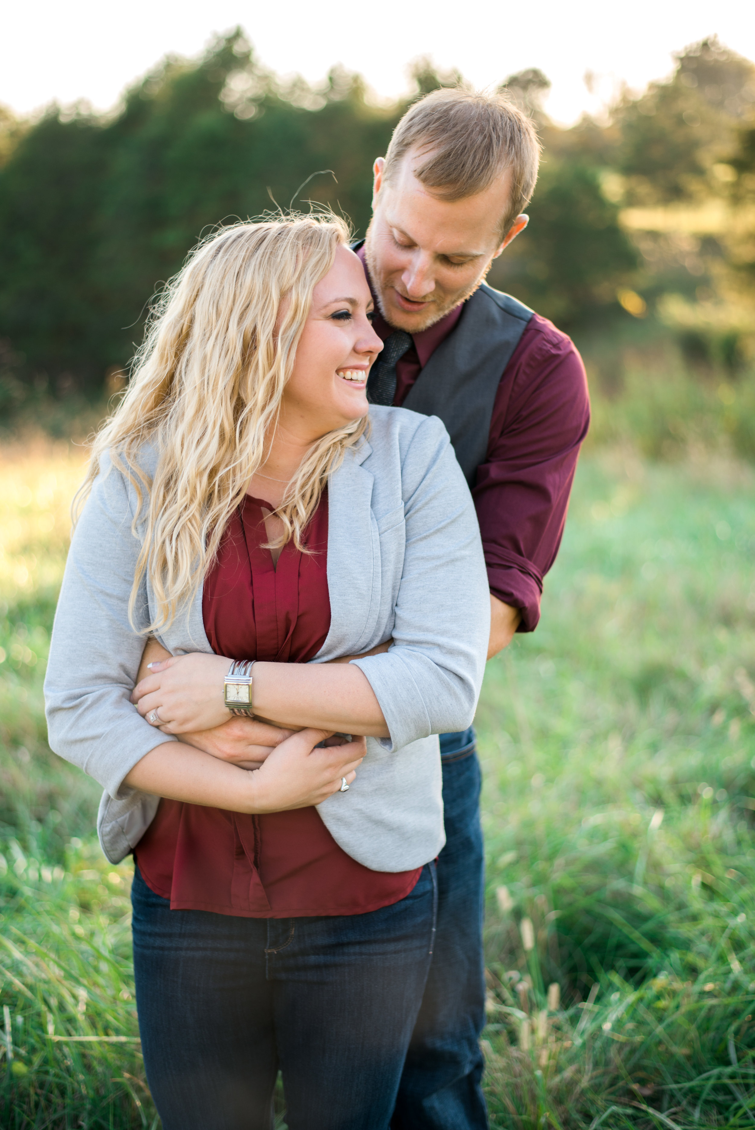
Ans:
{"label": "light grey blazer sleeve on the picture's left, beside her long hair", "polygon": [[[103,458],[71,541],[44,685],[51,748],[116,799],[131,794],[123,777],[137,762],[176,740],[129,701],[145,646],[128,616],[140,549],[134,505],[130,484]],[[144,582],[136,621],[148,624]]]}

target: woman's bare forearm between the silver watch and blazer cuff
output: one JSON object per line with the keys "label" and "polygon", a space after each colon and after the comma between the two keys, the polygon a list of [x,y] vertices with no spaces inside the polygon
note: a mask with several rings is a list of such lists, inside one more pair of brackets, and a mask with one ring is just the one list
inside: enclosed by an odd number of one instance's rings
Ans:
{"label": "woman's bare forearm between the silver watch and blazer cuff", "polygon": [[252,668],[254,715],[276,724],[390,737],[364,672],[353,663],[264,663]]}

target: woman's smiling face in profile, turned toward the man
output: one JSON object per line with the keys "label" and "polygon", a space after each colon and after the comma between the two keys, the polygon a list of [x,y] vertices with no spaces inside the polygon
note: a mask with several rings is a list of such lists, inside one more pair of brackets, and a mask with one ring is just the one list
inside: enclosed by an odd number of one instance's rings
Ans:
{"label": "woman's smiling face in profile, turned toward the man", "polygon": [[373,302],[362,263],[348,247],[312,295],[312,310],[284,390],[280,421],[316,440],[368,410],[367,374],[383,342],[372,328]]}

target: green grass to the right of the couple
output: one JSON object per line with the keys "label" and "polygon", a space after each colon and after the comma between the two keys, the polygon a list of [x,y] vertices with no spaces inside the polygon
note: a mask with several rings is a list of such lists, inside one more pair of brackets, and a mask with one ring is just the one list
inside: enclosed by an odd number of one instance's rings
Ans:
{"label": "green grass to the right of the couple", "polygon": [[755,1121],[754,534],[748,469],[592,458],[488,666],[498,1127]]}

